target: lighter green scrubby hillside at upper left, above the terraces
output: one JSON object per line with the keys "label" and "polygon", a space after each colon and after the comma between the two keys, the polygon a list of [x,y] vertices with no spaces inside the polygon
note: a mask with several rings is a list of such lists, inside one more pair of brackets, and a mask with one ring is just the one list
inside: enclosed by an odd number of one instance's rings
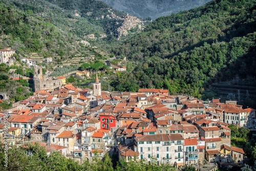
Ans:
{"label": "lighter green scrubby hillside at upper left, above the terraces", "polygon": [[[11,47],[22,56],[33,52],[39,56],[55,57],[59,61],[84,54],[84,48],[77,42],[89,34],[94,34],[96,38],[109,34],[109,39],[115,38],[118,25],[113,22],[116,21],[101,18],[101,15],[112,12],[124,15],[96,1],[1,0],[0,3],[1,48]],[[81,17],[75,16],[75,12]],[[92,42],[94,45],[97,43]],[[101,50],[106,48],[102,46]]]}

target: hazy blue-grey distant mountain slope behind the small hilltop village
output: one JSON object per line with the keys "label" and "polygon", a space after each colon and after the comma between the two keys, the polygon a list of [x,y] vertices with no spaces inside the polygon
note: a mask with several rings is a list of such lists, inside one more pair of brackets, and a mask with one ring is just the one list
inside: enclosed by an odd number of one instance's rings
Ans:
{"label": "hazy blue-grey distant mountain slope behind the small hilltop village", "polygon": [[99,0],[109,4],[114,9],[124,11],[138,17],[166,16],[191,8],[199,7],[210,0]]}

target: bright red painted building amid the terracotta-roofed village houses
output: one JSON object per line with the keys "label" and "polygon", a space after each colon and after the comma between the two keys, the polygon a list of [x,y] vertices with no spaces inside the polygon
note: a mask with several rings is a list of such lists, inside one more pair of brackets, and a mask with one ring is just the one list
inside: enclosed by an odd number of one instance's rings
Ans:
{"label": "bright red painted building amid the terracotta-roofed village houses", "polygon": [[111,113],[99,113],[100,129],[113,132],[116,127],[116,115]]}

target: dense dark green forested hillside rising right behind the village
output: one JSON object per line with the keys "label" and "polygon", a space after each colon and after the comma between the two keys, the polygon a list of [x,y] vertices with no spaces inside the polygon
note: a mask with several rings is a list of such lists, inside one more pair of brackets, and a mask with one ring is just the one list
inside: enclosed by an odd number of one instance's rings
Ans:
{"label": "dense dark green forested hillside rising right behind the village", "polygon": [[112,84],[118,91],[168,88],[201,97],[216,81],[251,79],[255,86],[256,1],[217,0],[160,17],[113,49],[130,63]]}

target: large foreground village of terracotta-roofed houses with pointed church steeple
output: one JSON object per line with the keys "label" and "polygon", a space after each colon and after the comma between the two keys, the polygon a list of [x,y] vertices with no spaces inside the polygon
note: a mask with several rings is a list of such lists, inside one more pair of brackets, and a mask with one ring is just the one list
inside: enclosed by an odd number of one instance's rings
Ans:
{"label": "large foreground village of terracotta-roofed houses with pointed church steeple", "polygon": [[9,116],[9,146],[30,140],[79,162],[111,151],[127,162],[154,157],[177,167],[199,167],[205,160],[242,164],[244,151],[231,146],[228,125],[256,127],[255,110],[236,101],[205,102],[164,89],[110,93],[101,90],[97,75],[93,90],[80,89],[48,80],[41,68],[35,72],[34,95],[0,114],[1,131],[4,113]]}

